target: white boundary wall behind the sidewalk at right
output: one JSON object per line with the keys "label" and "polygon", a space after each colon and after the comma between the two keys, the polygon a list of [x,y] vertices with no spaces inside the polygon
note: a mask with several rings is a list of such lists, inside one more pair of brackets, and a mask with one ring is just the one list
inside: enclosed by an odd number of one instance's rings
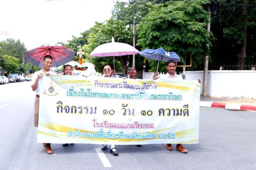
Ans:
{"label": "white boundary wall behind the sidewalk at right", "polygon": [[[186,71],[186,79],[202,79],[204,71]],[[218,98],[256,99],[255,70],[210,70],[207,75],[207,95]]]}

